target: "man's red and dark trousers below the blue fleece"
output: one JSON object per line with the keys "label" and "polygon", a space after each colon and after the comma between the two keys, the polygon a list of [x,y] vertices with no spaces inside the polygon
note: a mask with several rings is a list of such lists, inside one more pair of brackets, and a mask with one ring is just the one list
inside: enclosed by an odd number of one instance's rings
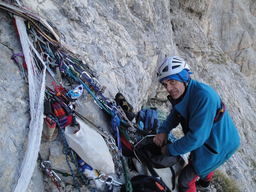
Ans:
{"label": "man's red and dark trousers below the blue fleece", "polygon": [[[204,178],[200,178],[200,185],[209,185],[210,180],[212,179],[213,171],[210,172]],[[188,164],[181,170],[178,183],[179,183],[179,192],[196,192],[196,184],[195,181],[198,178],[198,175],[192,165],[192,161],[189,161]]]}

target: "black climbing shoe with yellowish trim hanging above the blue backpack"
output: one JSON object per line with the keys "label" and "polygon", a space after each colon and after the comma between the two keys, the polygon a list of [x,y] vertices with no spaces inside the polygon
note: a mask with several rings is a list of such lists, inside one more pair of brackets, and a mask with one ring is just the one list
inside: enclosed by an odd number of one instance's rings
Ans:
{"label": "black climbing shoe with yellowish trim hanging above the blue backpack", "polygon": [[125,100],[124,95],[122,93],[116,93],[115,101],[116,104],[124,110],[124,113],[129,121],[132,121],[135,117],[135,113],[133,113],[132,105]]}

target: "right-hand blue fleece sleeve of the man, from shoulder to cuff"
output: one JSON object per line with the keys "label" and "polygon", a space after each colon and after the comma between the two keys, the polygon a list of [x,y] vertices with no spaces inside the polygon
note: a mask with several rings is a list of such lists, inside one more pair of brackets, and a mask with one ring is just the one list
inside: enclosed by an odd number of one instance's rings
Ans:
{"label": "right-hand blue fleece sleeve of the man, from shoulder to cuff", "polygon": [[211,133],[216,106],[218,106],[217,100],[215,94],[203,91],[193,97],[193,102],[188,109],[189,131],[185,136],[167,146],[167,155],[186,154],[204,144]]}

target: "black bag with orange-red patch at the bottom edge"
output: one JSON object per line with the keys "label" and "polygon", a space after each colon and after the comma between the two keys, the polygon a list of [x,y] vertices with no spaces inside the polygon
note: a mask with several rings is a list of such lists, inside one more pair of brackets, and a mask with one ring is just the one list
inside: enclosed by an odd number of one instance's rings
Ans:
{"label": "black bag with orange-red patch at the bottom edge", "polygon": [[[158,177],[147,175],[136,175],[132,177],[131,184],[133,192],[161,192],[165,189],[164,183]],[[120,192],[126,192],[123,185]]]}

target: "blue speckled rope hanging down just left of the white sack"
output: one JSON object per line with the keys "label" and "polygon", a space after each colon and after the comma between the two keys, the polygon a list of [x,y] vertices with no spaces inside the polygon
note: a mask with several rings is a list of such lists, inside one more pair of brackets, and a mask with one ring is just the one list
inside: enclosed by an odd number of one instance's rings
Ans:
{"label": "blue speckled rope hanging down just left of the white sack", "polygon": [[[70,165],[70,163],[69,163],[69,160],[68,160],[68,152],[70,152],[70,147],[69,147],[68,142],[67,142],[67,140],[66,140],[64,131],[63,131],[63,129],[62,129],[60,123],[59,123],[59,120],[58,120],[58,118],[57,118],[57,116],[56,116],[55,114],[53,114],[54,117],[53,117],[51,114],[48,114],[48,116],[49,116],[50,118],[52,118],[53,121],[56,122],[56,124],[58,125],[58,127],[59,127],[59,129],[60,129],[61,137],[62,137],[62,139],[63,139],[64,148],[65,148],[66,161],[67,161],[68,167],[69,167],[69,169],[70,169],[70,171],[71,171],[71,173],[72,173],[72,176],[73,176],[73,179],[74,179],[74,181],[75,181],[76,187],[77,187],[78,191],[81,192],[81,189],[80,189],[80,187],[79,187],[79,185],[78,185],[78,183],[77,183],[75,174],[74,174],[74,172],[73,172],[73,170],[72,170],[72,168],[71,168],[71,165]],[[72,154],[72,153],[69,153],[69,154]],[[78,170],[78,173],[79,173],[81,179],[83,180],[84,184],[86,185],[86,187],[87,187],[91,192],[96,192],[96,191],[97,191],[96,188],[91,188],[91,187],[89,186],[88,182],[84,179],[84,174],[80,171],[79,165],[77,164],[77,162],[76,162],[76,160],[75,160],[75,157],[74,157],[73,155],[70,155],[70,158],[71,158],[71,160],[74,162],[74,164],[75,164],[75,166],[76,166],[76,169]]]}

